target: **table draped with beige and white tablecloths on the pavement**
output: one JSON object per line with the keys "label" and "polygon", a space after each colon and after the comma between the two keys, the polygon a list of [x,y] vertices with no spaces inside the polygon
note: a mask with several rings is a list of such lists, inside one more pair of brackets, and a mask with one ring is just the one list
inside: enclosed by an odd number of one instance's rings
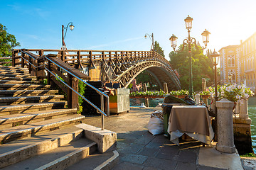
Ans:
{"label": "table draped with beige and white tablecloths on the pavement", "polygon": [[205,106],[173,106],[169,117],[168,132],[176,145],[184,133],[194,140],[210,145],[214,132]]}

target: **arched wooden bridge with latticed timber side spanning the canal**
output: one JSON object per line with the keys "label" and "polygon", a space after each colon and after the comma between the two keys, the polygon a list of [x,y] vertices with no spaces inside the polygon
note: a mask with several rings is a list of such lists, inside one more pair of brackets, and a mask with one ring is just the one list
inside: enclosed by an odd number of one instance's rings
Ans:
{"label": "arched wooden bridge with latticed timber side spanning the canal", "polygon": [[[90,77],[90,81],[116,81],[126,88],[137,75],[146,70],[153,75],[161,89],[164,82],[168,84],[169,90],[181,89],[180,81],[169,61],[153,51],[19,49],[13,50],[12,65],[21,64],[23,67],[24,64],[33,62],[28,55],[40,58],[48,54],[55,54],[63,62],[79,69]],[[38,79],[46,78],[45,72],[40,70],[44,63],[33,64],[37,64],[37,68],[30,69]]]}

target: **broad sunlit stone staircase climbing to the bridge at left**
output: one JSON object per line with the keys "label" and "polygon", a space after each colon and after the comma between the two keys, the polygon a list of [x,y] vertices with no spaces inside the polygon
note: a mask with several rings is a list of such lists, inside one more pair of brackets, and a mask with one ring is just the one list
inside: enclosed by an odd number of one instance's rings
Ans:
{"label": "broad sunlit stone staircase climbing to the bridge at left", "polygon": [[77,127],[85,116],[66,108],[63,98],[27,68],[0,66],[0,169],[66,169],[85,157],[90,162],[97,143]]}

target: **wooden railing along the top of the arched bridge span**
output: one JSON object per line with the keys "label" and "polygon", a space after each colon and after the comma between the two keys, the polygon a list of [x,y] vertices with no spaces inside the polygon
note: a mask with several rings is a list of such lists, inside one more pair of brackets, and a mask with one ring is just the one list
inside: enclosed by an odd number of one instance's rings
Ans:
{"label": "wooden railing along the top of the arched bridge span", "polygon": [[[95,68],[95,65],[102,64],[114,66],[116,64],[132,64],[147,60],[155,60],[166,65],[171,72],[178,86],[180,81],[171,68],[171,64],[163,56],[153,51],[113,51],[113,50],[47,50],[47,49],[23,49],[40,57],[48,54],[55,54],[57,58],[76,69],[82,67]],[[13,57],[17,57],[17,52],[13,52]],[[13,65],[21,64],[18,60],[13,60]],[[100,78],[96,78],[100,80]]]}

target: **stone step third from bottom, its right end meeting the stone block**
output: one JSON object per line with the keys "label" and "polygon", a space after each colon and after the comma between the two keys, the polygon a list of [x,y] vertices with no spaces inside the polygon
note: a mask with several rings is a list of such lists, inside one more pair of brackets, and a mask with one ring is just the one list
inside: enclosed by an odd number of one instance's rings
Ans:
{"label": "stone step third from bottom, its right end meeting the stone block", "polygon": [[[70,126],[62,130],[44,132],[41,135],[0,145],[0,168],[80,140],[82,136],[82,129]],[[90,140],[83,139],[82,141],[85,142],[85,145],[92,143]]]}

